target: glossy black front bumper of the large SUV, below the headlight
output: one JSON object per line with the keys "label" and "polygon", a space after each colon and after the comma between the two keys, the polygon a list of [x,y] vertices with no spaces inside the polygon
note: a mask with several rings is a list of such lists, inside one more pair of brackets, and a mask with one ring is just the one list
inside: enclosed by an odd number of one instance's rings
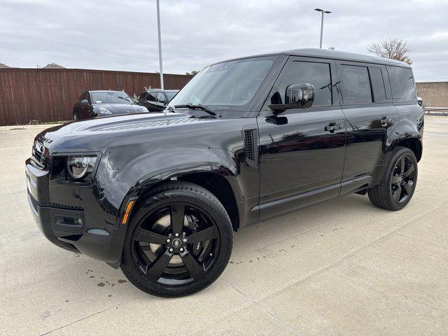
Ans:
{"label": "glossy black front bumper of the large SUV, below the headlight", "polygon": [[[126,228],[104,228],[91,223],[82,207],[50,202],[49,172],[25,162],[28,202],[43,235],[66,250],[83,253],[118,267]],[[87,215],[87,216],[86,216]]]}

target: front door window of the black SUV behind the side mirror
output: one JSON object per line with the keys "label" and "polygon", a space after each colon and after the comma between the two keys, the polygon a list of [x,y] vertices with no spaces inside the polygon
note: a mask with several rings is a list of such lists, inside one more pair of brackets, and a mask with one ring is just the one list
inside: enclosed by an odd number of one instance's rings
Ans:
{"label": "front door window of the black SUV behind the side mirror", "polygon": [[279,84],[281,102],[285,102],[286,87],[307,83],[314,86],[313,106],[332,104],[330,64],[302,61],[292,62],[281,80]]}

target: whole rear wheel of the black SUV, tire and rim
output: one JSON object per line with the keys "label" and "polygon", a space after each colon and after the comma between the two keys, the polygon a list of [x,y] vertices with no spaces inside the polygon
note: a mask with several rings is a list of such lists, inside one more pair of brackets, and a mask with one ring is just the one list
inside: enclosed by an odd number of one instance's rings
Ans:
{"label": "whole rear wheel of the black SUV, tire and rim", "polygon": [[414,152],[406,147],[395,148],[381,183],[367,190],[370,202],[381,209],[403,209],[414,195],[417,176],[417,159]]}

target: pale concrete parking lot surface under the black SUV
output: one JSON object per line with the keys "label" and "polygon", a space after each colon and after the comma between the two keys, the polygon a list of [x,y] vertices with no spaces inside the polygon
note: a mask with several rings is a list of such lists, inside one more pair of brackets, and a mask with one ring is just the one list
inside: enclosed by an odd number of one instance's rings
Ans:
{"label": "pale concrete parking lot surface under the black SUV", "polygon": [[349,195],[244,228],[221,278],[177,299],[41,235],[24,172],[41,130],[0,127],[0,335],[448,334],[447,117],[426,117],[405,209]]}

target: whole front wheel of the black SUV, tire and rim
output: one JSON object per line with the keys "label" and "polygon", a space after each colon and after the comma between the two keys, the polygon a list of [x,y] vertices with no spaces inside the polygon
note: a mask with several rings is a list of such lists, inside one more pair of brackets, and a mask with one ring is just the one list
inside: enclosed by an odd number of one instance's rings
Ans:
{"label": "whole front wheel of the black SUV, tire and rim", "polygon": [[189,295],[218,279],[232,244],[232,223],[223,204],[193,183],[169,181],[132,211],[121,269],[148,294]]}

